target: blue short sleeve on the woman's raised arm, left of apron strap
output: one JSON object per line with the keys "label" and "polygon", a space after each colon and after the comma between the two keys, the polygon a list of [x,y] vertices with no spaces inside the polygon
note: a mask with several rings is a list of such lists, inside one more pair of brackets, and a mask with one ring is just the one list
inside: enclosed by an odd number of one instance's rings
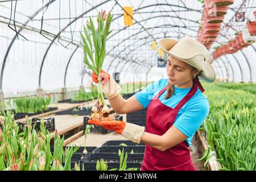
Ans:
{"label": "blue short sleeve on the woman's raised arm, left of apron strap", "polygon": [[151,100],[153,100],[155,90],[158,90],[159,82],[161,82],[161,80],[162,79],[160,79],[159,81],[155,81],[150,85],[147,85],[146,88],[134,95],[144,108],[146,108],[150,104]]}

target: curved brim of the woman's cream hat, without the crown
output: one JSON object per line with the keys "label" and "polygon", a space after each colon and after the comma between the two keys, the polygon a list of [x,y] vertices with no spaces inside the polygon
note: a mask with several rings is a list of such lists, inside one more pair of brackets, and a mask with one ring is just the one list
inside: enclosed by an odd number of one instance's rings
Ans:
{"label": "curved brim of the woman's cream hat, without the crown", "polygon": [[[203,71],[201,75],[199,76],[200,80],[207,81],[207,82],[213,82],[216,79],[216,73],[210,64],[209,60],[204,60],[202,57],[198,56],[196,59],[187,59],[187,57],[183,57],[183,55],[178,55],[176,52],[172,52],[172,47],[177,44],[177,40],[175,39],[161,39],[158,43],[158,46],[160,49],[162,49],[163,52],[167,53],[168,55],[171,55],[175,57],[176,59],[179,59],[181,61],[184,61],[185,63],[192,65],[192,67],[195,67],[199,71]],[[185,50],[183,50],[185,51]]]}

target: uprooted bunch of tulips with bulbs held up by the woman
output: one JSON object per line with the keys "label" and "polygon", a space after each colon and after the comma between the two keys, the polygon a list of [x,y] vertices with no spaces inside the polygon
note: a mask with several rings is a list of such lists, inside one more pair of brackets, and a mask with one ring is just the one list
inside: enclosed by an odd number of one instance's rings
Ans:
{"label": "uprooted bunch of tulips with bulbs held up by the woman", "polygon": [[[88,65],[90,69],[98,76],[101,72],[102,65],[106,54],[106,38],[112,32],[109,30],[113,16],[108,13],[106,17],[106,11],[98,13],[97,23],[98,28],[93,24],[92,18],[90,22],[87,21],[87,26],[84,26],[84,35],[80,32],[82,42],[84,43],[84,63]],[[94,56],[93,56],[94,53]],[[89,59],[88,59],[89,57]],[[90,60],[90,61],[89,61]],[[90,119],[113,119],[110,118],[109,108],[106,106],[104,96],[101,89],[101,78],[98,76],[98,101],[95,106],[92,107],[92,115]]]}

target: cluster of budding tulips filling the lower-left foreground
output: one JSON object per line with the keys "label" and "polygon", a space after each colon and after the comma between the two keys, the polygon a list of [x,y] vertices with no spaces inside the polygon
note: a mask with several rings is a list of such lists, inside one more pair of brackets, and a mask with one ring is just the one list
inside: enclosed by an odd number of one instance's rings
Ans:
{"label": "cluster of budding tulips filling the lower-left foreground", "polygon": [[43,121],[38,132],[27,120],[28,129],[22,133],[18,133],[19,127],[10,112],[3,113],[0,122],[0,170],[71,170],[71,157],[78,147],[71,146],[64,151],[64,137],[60,138],[57,130],[52,154],[51,134],[46,130]]}

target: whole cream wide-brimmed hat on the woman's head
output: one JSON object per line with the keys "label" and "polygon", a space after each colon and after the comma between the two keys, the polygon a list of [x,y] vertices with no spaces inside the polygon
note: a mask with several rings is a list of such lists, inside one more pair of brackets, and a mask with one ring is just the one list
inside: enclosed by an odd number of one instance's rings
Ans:
{"label": "whole cream wide-brimmed hat on the woman's head", "polygon": [[209,63],[210,55],[208,49],[200,42],[189,37],[184,37],[179,42],[175,39],[167,38],[161,39],[158,45],[168,55],[184,61],[201,71],[200,80],[207,82],[215,80],[216,74]]}

